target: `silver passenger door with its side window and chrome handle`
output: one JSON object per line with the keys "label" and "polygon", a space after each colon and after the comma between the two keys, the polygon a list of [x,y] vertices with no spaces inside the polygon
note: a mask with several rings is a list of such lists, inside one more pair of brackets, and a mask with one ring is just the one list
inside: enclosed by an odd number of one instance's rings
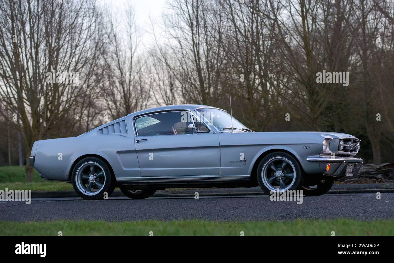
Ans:
{"label": "silver passenger door with its side window and chrome handle", "polygon": [[[134,119],[141,176],[220,175],[219,134],[184,113],[158,112]],[[189,131],[189,125],[202,128]]]}

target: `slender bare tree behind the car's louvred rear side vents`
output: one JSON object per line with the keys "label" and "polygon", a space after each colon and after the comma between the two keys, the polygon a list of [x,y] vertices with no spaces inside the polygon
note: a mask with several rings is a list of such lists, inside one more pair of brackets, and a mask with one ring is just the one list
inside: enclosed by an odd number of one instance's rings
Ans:
{"label": "slender bare tree behind the car's louvred rear side vents", "polygon": [[145,57],[138,53],[141,30],[136,25],[134,8],[129,4],[116,17],[109,16],[110,50],[105,56],[105,81],[100,84],[107,110],[117,119],[147,107],[150,74]]}

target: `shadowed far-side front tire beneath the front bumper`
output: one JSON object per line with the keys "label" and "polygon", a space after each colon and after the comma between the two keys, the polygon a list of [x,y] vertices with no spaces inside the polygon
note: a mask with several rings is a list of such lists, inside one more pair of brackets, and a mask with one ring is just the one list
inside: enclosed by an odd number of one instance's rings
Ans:
{"label": "shadowed far-side front tire beneath the front bumper", "polygon": [[303,195],[324,195],[333,187],[333,184],[334,179],[332,177],[308,175],[300,189],[303,190]]}

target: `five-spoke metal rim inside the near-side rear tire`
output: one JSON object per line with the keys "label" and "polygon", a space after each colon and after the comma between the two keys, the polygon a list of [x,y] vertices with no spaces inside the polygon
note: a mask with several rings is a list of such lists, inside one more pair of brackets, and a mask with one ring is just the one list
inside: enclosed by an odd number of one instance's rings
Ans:
{"label": "five-spoke metal rim inside the near-side rear tire", "polygon": [[85,162],[76,171],[75,182],[84,195],[97,195],[106,182],[104,169],[97,162]]}

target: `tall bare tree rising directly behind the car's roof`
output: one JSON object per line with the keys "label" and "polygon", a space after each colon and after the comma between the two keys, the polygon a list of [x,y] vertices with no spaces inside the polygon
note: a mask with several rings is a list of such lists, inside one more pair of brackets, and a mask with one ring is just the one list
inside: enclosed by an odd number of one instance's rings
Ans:
{"label": "tall bare tree rising directly behind the car's roof", "polygon": [[176,59],[177,81],[183,83],[190,103],[216,105],[222,96],[219,84],[224,56],[216,39],[223,28],[221,10],[216,7],[216,1],[175,0],[164,17],[169,39],[166,50]]}

